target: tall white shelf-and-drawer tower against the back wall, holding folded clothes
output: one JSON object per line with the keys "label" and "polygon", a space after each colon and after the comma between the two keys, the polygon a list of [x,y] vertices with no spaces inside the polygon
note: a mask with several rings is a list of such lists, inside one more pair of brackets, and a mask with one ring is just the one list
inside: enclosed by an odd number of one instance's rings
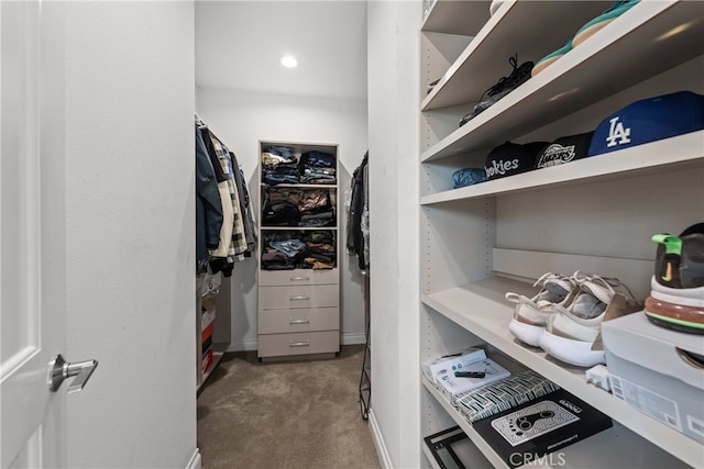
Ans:
{"label": "tall white shelf-and-drawer tower against the back wall, holding folded clothes", "polygon": [[[297,160],[306,152],[321,152],[334,158],[334,183],[277,183],[264,181],[260,170],[260,271],[257,305],[257,356],[262,360],[292,357],[334,357],[340,351],[340,201],[338,191],[339,154],[336,144],[310,144],[261,141],[260,155],[270,146],[293,150]],[[260,164],[262,168],[262,164]],[[264,196],[274,190],[292,189],[298,193],[323,191],[333,211],[332,223],[324,226],[285,226],[267,224],[263,216]],[[293,222],[292,222],[293,223]],[[261,263],[268,236],[290,234],[301,238],[324,232],[332,238],[332,268],[295,268],[266,270]]]}

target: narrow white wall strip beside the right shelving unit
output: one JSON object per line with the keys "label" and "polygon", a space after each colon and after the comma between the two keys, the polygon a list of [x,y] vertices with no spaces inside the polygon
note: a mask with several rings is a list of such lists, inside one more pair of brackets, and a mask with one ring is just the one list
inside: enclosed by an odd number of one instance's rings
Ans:
{"label": "narrow white wall strip beside the right shelving unit", "polygon": [[367,4],[372,412],[385,466],[420,467],[420,2]]}

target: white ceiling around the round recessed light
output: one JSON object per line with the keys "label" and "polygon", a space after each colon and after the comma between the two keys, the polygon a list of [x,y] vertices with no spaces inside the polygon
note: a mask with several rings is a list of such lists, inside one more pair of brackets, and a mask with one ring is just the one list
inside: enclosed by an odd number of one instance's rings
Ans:
{"label": "white ceiling around the round recessed light", "polygon": [[196,85],[366,99],[366,1],[198,0]]}

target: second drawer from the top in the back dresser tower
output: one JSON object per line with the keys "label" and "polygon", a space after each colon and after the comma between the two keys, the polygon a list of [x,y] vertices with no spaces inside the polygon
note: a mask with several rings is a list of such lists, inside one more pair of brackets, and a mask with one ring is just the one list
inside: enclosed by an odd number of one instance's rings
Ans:
{"label": "second drawer from the top in the back dresser tower", "polygon": [[260,287],[258,301],[260,310],[338,308],[340,286]]}

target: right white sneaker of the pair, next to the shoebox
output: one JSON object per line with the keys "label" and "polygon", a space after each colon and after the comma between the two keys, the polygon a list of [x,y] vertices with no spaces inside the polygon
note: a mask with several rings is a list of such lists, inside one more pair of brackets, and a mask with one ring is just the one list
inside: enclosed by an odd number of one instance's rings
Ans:
{"label": "right white sneaker of the pair, next to the shoebox", "polygon": [[[588,276],[578,278],[580,291],[569,305],[557,304],[540,336],[540,347],[552,357],[578,367],[604,364],[602,323],[642,310],[628,287],[618,279]],[[615,288],[623,287],[627,295]],[[598,339],[598,340],[597,340]]]}

